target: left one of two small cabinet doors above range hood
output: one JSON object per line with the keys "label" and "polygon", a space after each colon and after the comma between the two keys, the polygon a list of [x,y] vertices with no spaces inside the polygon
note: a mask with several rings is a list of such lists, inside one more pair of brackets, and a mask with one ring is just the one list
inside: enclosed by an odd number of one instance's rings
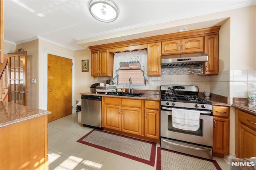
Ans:
{"label": "left one of two small cabinet doors above range hood", "polygon": [[162,54],[180,53],[180,40],[162,42]]}

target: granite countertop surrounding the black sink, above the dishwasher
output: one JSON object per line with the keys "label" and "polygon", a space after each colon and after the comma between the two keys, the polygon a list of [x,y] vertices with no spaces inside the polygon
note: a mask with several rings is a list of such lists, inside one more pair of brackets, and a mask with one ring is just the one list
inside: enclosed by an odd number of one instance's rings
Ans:
{"label": "granite countertop surrounding the black sink, above the dishwasher", "polygon": [[141,97],[130,97],[130,96],[117,96],[117,95],[106,95],[105,93],[93,93],[93,92],[84,92],[80,93],[80,95],[94,95],[94,96],[103,96],[103,97],[116,97],[116,98],[124,98],[124,99],[144,99],[144,100],[153,100],[153,101],[160,101],[161,95],[160,91],[145,91],[145,90],[140,90],[140,91],[135,91],[134,93],[144,93]]}

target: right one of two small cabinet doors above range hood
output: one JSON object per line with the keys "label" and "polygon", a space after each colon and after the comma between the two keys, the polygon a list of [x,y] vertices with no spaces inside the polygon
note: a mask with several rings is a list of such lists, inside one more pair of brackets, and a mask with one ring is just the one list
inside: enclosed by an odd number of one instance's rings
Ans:
{"label": "right one of two small cabinet doors above range hood", "polygon": [[204,51],[204,37],[181,39],[181,52],[202,52]]}

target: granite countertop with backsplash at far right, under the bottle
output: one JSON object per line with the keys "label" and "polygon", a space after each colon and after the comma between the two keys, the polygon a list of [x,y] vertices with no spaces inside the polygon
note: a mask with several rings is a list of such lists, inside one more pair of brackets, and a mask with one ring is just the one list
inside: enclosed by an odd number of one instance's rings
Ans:
{"label": "granite countertop with backsplash at far right, under the bottle", "polygon": [[248,106],[247,98],[234,97],[234,104],[232,106],[236,109],[249,113],[250,115],[256,116],[256,108]]}

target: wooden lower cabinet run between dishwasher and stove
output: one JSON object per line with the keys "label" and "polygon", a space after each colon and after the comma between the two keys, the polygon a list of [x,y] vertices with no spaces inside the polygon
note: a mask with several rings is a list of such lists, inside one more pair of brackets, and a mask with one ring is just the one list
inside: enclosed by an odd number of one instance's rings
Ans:
{"label": "wooden lower cabinet run between dishwasher and stove", "polygon": [[104,97],[103,119],[107,130],[152,142],[160,139],[159,101]]}

